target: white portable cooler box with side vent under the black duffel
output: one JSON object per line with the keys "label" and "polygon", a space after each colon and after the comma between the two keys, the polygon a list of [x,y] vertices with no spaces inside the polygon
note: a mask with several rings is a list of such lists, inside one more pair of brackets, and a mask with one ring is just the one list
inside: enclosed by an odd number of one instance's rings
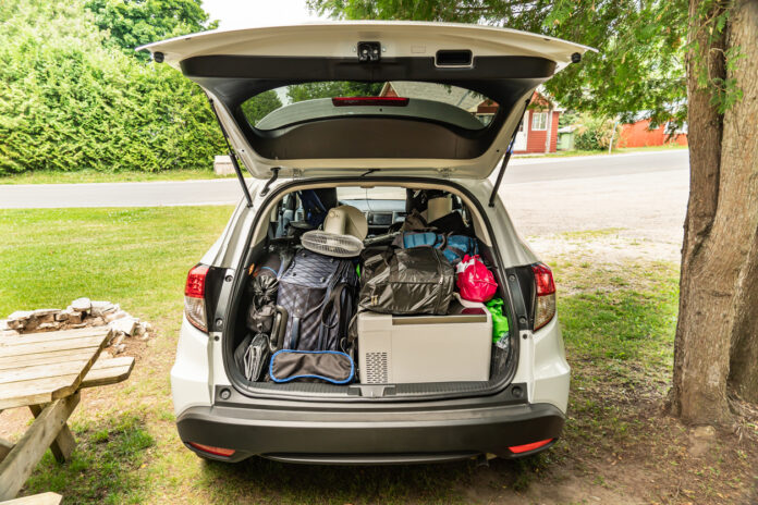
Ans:
{"label": "white portable cooler box with side vent under the black duffel", "polygon": [[360,383],[489,380],[492,316],[455,297],[447,316],[358,313]]}

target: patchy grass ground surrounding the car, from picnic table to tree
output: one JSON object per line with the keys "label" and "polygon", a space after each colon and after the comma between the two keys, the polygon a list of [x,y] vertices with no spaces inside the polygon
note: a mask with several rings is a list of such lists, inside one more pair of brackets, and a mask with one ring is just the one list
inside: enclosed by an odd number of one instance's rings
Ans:
{"label": "patchy grass ground surrounding the car, from picnic table to tree", "polygon": [[[470,461],[347,468],[198,459],[176,435],[168,375],[184,278],[231,210],[0,211],[0,316],[89,296],[118,301],[158,330],[146,344],[130,344],[126,354],[137,364],[129,381],[83,393],[72,418],[78,441],[73,459],[58,465],[48,452],[25,493],[56,491],[76,504],[750,503],[755,424],[739,439],[720,433],[711,451],[696,457],[688,431],[661,409],[671,373],[676,266],[606,264],[584,254],[546,258],[560,293],[568,293],[559,297],[559,311],[573,367],[566,429],[552,451],[496,459],[487,468]],[[3,412],[0,434],[17,436],[28,419],[21,409]],[[19,429],[3,434],[10,423]]]}

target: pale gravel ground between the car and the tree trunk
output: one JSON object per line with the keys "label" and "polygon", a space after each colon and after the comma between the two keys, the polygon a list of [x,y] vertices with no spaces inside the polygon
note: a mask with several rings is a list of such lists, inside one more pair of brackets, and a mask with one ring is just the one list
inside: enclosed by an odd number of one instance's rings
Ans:
{"label": "pale gravel ground between the car and the tree trunk", "polygon": [[537,254],[554,256],[555,247],[571,247],[574,232],[615,229],[583,238],[615,256],[678,261],[688,177],[687,170],[671,170],[508,184],[501,192],[516,229]]}

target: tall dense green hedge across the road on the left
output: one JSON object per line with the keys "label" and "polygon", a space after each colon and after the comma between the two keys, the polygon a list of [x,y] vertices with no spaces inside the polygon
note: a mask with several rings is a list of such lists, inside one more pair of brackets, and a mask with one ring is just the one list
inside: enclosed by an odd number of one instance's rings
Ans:
{"label": "tall dense green hedge across the road on the left", "polygon": [[102,45],[78,1],[0,3],[0,175],[210,169],[222,138],[181,73]]}

